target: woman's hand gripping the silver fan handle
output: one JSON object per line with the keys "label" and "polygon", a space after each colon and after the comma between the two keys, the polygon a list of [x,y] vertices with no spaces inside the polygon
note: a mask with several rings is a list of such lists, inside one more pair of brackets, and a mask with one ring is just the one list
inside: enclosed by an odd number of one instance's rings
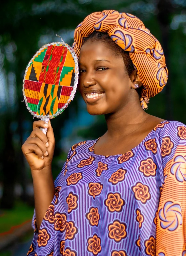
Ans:
{"label": "woman's hand gripping the silver fan handle", "polygon": [[[47,128],[46,135],[40,127]],[[54,155],[55,138],[51,121],[33,122],[33,131],[22,146],[22,151],[30,165],[31,170],[42,170],[51,166]]]}

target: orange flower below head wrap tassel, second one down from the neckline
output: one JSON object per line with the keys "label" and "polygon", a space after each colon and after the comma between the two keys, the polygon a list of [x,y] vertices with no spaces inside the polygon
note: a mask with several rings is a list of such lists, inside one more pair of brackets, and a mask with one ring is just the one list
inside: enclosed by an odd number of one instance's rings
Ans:
{"label": "orange flower below head wrap tassel, second one down from the neckline", "polygon": [[151,157],[146,160],[142,160],[140,163],[139,171],[144,174],[145,177],[155,176],[157,166]]}

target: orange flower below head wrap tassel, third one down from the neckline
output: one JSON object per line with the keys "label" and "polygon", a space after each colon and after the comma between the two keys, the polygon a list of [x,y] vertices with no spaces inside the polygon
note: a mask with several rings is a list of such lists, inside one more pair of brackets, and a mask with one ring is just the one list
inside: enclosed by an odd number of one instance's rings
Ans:
{"label": "orange flower below head wrap tassel, third one down from the neckline", "polygon": [[147,200],[151,199],[151,194],[148,192],[149,187],[147,185],[143,185],[139,182],[135,186],[132,186],[132,190],[134,192],[135,199],[141,201],[143,204],[145,204]]}

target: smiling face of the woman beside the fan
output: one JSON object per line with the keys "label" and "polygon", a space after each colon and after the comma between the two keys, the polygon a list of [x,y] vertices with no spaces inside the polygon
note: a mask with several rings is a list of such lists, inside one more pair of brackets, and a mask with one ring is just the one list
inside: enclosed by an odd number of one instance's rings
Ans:
{"label": "smiling face of the woman beside the fan", "polygon": [[106,43],[87,41],[79,58],[78,89],[89,114],[115,113],[130,100],[131,80],[122,56]]}

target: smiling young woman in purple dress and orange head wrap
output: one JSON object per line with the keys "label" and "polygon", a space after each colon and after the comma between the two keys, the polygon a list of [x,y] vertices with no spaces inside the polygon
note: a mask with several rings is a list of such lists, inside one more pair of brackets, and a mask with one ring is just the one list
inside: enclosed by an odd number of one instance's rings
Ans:
{"label": "smiling young woman in purple dress and orange head wrap", "polygon": [[33,123],[23,145],[35,197],[28,254],[186,255],[186,126],[144,112],[167,82],[161,45],[117,11],[90,14],[74,39],[78,89],[108,131],[72,146],[53,182],[51,123]]}

